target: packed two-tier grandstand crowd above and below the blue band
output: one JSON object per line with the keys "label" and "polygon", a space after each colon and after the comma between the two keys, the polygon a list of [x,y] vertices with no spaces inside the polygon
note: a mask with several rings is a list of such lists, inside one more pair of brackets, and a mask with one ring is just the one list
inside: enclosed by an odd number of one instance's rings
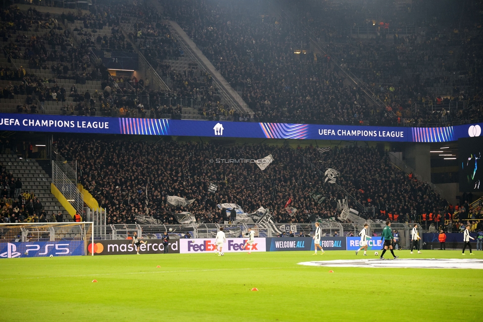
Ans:
{"label": "packed two-tier grandstand crowd above and below the blue band", "polygon": [[[483,120],[482,1],[467,3],[465,20],[444,10],[413,14],[435,2],[422,0],[389,1],[383,14],[381,1],[281,0],[267,7],[254,0],[107,0],[93,1],[89,10],[44,2],[57,13],[32,5],[40,4],[35,0],[1,9],[0,112],[360,126]],[[209,70],[185,52],[172,21],[245,109],[227,100]],[[152,77],[109,72],[97,54],[114,51],[144,57],[166,88],[154,86]],[[13,144],[8,150],[23,149]],[[430,184],[363,144],[321,152],[316,145],[57,135],[55,145],[77,162],[78,181],[107,210],[109,224],[135,223],[138,214],[174,223],[172,214],[184,211],[216,223],[224,220],[217,207],[223,203],[246,213],[270,209],[278,222],[311,222],[337,217],[338,201],[348,195],[367,219],[410,222],[432,214],[443,220],[454,210]],[[210,163],[266,155],[274,158],[267,171]],[[326,168],[339,170],[337,184],[320,184]],[[10,187],[13,177],[2,170],[2,184]],[[208,191],[210,183],[216,193]],[[194,201],[173,208],[167,196]],[[287,212],[288,200],[296,212]]]}

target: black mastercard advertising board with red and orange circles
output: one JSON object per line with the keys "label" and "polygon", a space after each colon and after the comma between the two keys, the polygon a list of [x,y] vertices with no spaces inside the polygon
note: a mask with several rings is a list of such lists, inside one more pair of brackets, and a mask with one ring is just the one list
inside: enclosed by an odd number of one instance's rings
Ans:
{"label": "black mastercard advertising board with red and orange circles", "polygon": [[[142,239],[147,244],[141,244],[140,254],[163,254],[164,245],[161,239]],[[94,255],[126,255],[136,254],[136,245],[132,244],[132,239],[123,240],[97,240],[94,243]],[[91,254],[93,244],[87,246]],[[180,239],[170,239],[168,243],[168,253],[180,252]]]}

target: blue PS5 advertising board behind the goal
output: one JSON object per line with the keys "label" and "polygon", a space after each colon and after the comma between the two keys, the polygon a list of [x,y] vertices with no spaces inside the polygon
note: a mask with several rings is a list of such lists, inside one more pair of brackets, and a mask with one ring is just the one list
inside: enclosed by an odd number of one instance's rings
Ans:
{"label": "blue PS5 advertising board behind the goal", "polygon": [[85,255],[82,240],[59,242],[0,243],[0,258]]}

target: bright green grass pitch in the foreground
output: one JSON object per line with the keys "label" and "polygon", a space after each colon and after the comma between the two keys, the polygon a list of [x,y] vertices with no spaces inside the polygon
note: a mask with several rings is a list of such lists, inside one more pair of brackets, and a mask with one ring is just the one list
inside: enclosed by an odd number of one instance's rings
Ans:
{"label": "bright green grass pitch in the foreground", "polygon": [[[463,258],[461,251],[423,252],[396,251],[396,255]],[[0,321],[477,321],[482,317],[483,270],[297,265],[362,259],[352,251],[311,254],[2,259]],[[376,258],[373,254],[368,258]],[[483,259],[483,252],[475,254],[465,258]],[[251,291],[253,287],[259,291]]]}

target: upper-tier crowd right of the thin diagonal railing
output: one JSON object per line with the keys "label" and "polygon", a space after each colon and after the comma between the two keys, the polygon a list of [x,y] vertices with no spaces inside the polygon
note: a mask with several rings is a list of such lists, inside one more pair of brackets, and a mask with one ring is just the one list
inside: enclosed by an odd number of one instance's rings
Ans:
{"label": "upper-tier crowd right of the thin diagonal railing", "polygon": [[[399,122],[424,125],[481,120],[483,79],[476,71],[482,67],[478,53],[483,35],[477,13],[482,1],[469,6],[457,2],[441,6],[435,1],[412,1],[406,6],[386,3],[383,7],[376,1],[350,6],[305,4],[305,10],[295,10],[294,3],[288,2],[296,19],[326,42],[324,48],[338,58],[340,66],[362,80],[397,114]],[[431,17],[423,14],[428,10]],[[461,12],[465,19],[451,11]],[[365,12],[383,16],[376,19]],[[352,26],[375,33],[369,39],[354,40],[349,34]],[[387,37],[389,30],[391,37]],[[331,34],[341,31],[346,34],[333,39]],[[449,102],[453,107],[460,104],[449,110]],[[414,108],[415,104],[426,108]]]}

